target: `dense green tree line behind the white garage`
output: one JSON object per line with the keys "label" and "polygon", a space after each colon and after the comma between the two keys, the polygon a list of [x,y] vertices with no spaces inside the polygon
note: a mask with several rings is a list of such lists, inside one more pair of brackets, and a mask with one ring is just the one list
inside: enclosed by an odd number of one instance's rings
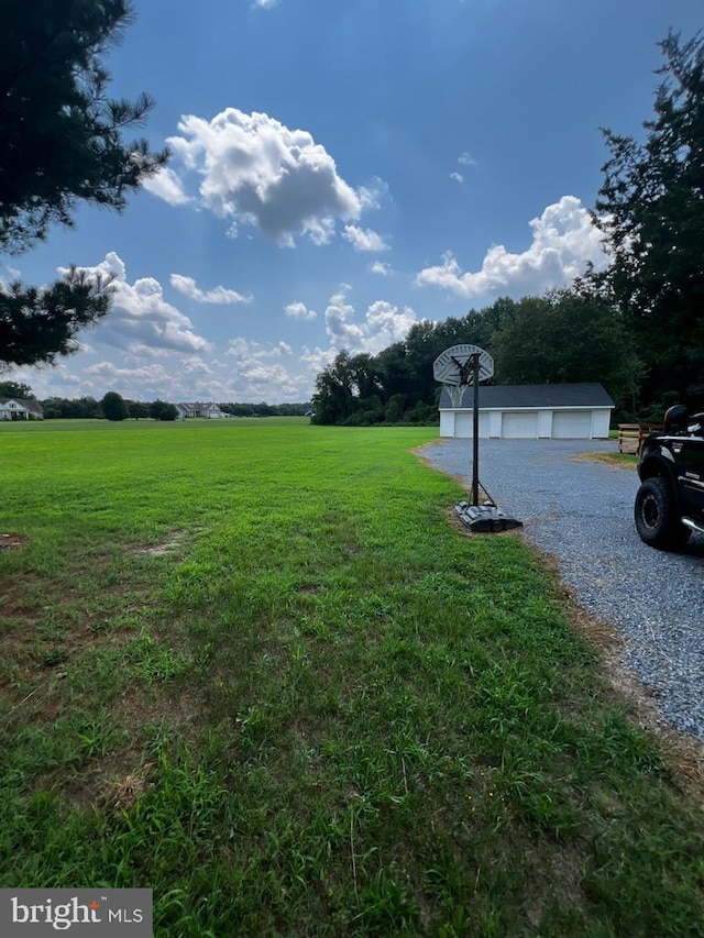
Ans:
{"label": "dense green tree line behind the white garage", "polygon": [[441,388],[432,363],[460,343],[485,349],[501,384],[598,380],[624,415],[635,408],[641,366],[634,336],[608,298],[583,287],[424,320],[378,355],[340,352],[316,379],[314,421],[436,421]]}

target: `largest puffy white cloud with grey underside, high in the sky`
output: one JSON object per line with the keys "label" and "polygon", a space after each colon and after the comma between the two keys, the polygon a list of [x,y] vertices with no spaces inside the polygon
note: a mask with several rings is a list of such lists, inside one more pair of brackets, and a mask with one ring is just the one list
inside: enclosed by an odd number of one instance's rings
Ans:
{"label": "largest puffy white cloud with grey underside, high in the sky", "polygon": [[178,130],[167,143],[186,170],[201,177],[202,203],[219,218],[257,225],[279,244],[292,246],[298,234],[326,244],[338,219],[359,219],[376,198],[345,183],[310,133],[268,114],[237,108],[211,121],[188,114]]}

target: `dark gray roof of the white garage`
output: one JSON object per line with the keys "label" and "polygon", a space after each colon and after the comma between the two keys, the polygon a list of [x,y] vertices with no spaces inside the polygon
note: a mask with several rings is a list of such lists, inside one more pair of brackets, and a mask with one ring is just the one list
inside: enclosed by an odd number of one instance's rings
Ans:
{"label": "dark gray roof of the white garage", "polygon": [[[474,404],[474,388],[468,387],[458,410]],[[522,407],[614,407],[601,384],[517,384],[480,385],[480,407],[519,410]],[[440,410],[453,410],[447,388],[440,395]]]}

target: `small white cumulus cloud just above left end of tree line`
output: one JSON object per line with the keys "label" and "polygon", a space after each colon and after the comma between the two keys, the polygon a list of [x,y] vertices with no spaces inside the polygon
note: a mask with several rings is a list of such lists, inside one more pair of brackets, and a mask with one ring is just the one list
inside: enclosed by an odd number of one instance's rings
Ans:
{"label": "small white cumulus cloud just above left end of tree line", "polygon": [[400,342],[417,321],[410,307],[398,309],[385,300],[376,300],[367,307],[362,322],[358,322],[354,307],[348,301],[348,289],[343,285],[330,297],[326,309],[326,331],[338,349],[376,355],[387,345]]}

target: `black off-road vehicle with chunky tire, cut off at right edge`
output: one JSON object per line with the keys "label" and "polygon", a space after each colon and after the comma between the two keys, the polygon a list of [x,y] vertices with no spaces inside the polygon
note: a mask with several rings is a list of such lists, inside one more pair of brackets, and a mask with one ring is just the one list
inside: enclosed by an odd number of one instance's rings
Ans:
{"label": "black off-road vehicle with chunky tire, cut off at right edge", "polygon": [[704,532],[704,413],[671,407],[638,461],[636,528],[650,547],[676,550]]}

